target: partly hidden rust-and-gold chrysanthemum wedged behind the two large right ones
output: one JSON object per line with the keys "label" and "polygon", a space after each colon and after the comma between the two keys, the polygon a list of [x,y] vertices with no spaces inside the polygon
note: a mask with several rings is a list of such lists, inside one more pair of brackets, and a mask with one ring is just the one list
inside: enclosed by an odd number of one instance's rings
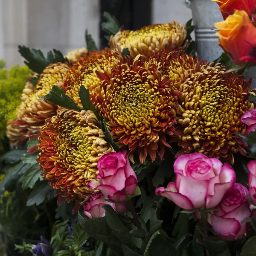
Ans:
{"label": "partly hidden rust-and-gold chrysanthemum wedged behind the two large right ones", "polygon": [[182,51],[160,50],[155,52],[146,62],[146,65],[157,65],[162,76],[170,77],[170,85],[179,90],[180,84],[199,64],[199,58],[193,58]]}

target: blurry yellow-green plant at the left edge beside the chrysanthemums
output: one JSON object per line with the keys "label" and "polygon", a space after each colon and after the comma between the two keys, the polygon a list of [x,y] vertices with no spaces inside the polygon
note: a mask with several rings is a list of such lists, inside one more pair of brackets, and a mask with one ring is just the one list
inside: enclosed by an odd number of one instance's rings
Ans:
{"label": "blurry yellow-green plant at the left edge beside the chrysanthemums", "polygon": [[[0,60],[0,140],[4,137],[6,123],[12,119],[15,108],[20,104],[20,94],[31,70],[27,66],[13,66],[5,69],[6,63]],[[0,152],[3,145],[0,142]]]}

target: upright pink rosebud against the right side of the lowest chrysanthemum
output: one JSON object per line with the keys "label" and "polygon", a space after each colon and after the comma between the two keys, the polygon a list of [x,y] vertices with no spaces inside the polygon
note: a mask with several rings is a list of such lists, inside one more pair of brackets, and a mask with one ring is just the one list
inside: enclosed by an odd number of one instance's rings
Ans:
{"label": "upright pink rosebud against the right side of the lowest chrysanthemum", "polygon": [[133,195],[137,187],[137,177],[128,160],[127,151],[105,154],[98,161],[99,175],[90,180],[91,189],[99,189],[102,194],[116,202],[125,201]]}

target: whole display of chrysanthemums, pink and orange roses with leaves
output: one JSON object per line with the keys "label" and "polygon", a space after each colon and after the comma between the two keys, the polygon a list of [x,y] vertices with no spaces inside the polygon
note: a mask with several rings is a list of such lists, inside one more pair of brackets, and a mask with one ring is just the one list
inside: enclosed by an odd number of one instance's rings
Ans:
{"label": "whole display of chrysanthemums, pink and orange roses with leaves", "polygon": [[0,193],[32,230],[14,235],[6,211],[0,223],[20,253],[256,255],[256,92],[241,74],[256,1],[215,1],[226,53],[212,63],[195,56],[191,20],[130,31],[105,13],[109,48],[87,32],[66,56],[19,46],[31,71]]}

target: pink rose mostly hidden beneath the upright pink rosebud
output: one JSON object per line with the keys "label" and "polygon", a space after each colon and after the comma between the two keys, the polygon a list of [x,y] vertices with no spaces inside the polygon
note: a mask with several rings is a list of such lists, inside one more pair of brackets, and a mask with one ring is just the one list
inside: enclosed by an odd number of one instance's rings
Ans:
{"label": "pink rose mostly hidden beneath the upright pink rosebud", "polygon": [[90,195],[90,201],[84,204],[84,214],[88,218],[99,218],[105,216],[105,209],[102,207],[109,204],[115,211],[124,214],[126,210],[125,202],[118,204],[110,203],[102,198],[102,193],[99,192],[96,195]]}

